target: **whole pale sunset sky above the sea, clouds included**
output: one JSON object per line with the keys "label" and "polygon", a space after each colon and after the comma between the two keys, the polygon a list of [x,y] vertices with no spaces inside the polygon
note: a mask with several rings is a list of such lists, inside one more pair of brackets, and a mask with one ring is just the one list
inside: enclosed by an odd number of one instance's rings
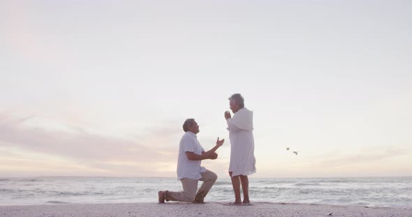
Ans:
{"label": "whole pale sunset sky above the sea, clouds included", "polygon": [[0,0],[0,177],[176,177],[186,118],[228,177],[233,93],[251,177],[412,176],[411,38],[410,1]]}

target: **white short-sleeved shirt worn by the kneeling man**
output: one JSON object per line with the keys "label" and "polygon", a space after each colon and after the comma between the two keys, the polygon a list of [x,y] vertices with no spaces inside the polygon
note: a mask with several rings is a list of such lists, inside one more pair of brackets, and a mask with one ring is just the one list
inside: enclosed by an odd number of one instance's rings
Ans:
{"label": "white short-sleeved shirt worn by the kneeling man", "polygon": [[206,168],[200,166],[202,161],[191,161],[187,158],[186,152],[193,152],[201,155],[204,152],[196,134],[187,131],[180,140],[179,159],[177,159],[177,179],[201,179],[200,172],[206,172]]}

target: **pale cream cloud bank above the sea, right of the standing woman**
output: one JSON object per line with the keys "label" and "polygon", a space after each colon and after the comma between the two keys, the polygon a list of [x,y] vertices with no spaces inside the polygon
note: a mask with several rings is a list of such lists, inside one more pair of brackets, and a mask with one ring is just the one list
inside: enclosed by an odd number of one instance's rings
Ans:
{"label": "pale cream cloud bank above the sea, right of the standing woman", "polygon": [[[272,160],[258,159],[262,177],[371,177],[410,176],[411,150],[392,146],[359,147],[353,152],[327,152],[318,155],[290,154]],[[271,162],[270,162],[271,161]],[[270,166],[272,164],[273,166]]]}

